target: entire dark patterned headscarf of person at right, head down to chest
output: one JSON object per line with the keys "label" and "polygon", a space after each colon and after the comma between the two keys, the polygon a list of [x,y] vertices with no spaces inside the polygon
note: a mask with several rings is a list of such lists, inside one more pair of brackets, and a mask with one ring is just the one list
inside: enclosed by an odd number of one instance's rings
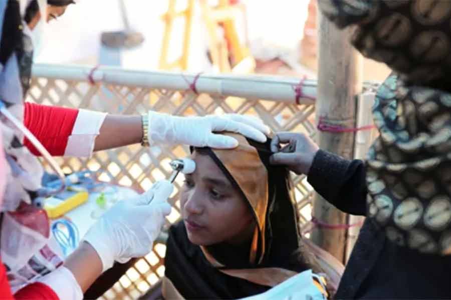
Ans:
{"label": "entire dark patterned headscarf of person at right, head down to chest", "polygon": [[352,44],[395,72],[373,107],[367,215],[399,246],[451,254],[451,1],[319,0]]}

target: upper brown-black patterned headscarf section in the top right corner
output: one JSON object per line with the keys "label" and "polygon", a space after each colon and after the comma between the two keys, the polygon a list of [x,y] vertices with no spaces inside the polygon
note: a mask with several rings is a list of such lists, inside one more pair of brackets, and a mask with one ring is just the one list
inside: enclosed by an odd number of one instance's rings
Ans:
{"label": "upper brown-black patterned headscarf section in the top right corner", "polygon": [[351,43],[385,62],[409,83],[451,81],[451,1],[318,0],[338,27],[353,27]]}

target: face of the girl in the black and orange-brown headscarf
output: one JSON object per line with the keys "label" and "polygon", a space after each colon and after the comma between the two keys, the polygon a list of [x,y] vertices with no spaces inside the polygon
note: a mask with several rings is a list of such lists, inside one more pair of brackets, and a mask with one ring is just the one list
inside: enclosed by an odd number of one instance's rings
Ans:
{"label": "face of the girl in the black and orange-brown headscarf", "polygon": [[180,198],[189,240],[208,246],[250,239],[254,215],[240,190],[232,185],[210,156],[194,151],[193,173],[185,175]]}

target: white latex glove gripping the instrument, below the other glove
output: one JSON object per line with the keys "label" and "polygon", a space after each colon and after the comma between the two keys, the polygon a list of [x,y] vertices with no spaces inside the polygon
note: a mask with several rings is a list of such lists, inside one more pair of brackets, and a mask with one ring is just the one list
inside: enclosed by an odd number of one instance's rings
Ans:
{"label": "white latex glove gripping the instrument, below the other glove", "polygon": [[89,229],[84,240],[99,254],[103,272],[115,260],[124,263],[150,252],[171,211],[167,198],[172,190],[168,180],[158,181],[136,198],[116,203]]}

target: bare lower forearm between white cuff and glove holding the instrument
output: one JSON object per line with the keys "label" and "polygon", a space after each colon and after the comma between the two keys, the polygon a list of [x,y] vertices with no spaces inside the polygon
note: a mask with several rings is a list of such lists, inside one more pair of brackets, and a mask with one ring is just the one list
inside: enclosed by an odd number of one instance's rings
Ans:
{"label": "bare lower forearm between white cuff and glove holding the instrument", "polygon": [[64,266],[73,274],[83,292],[102,273],[102,260],[96,250],[83,242],[65,261]]}

